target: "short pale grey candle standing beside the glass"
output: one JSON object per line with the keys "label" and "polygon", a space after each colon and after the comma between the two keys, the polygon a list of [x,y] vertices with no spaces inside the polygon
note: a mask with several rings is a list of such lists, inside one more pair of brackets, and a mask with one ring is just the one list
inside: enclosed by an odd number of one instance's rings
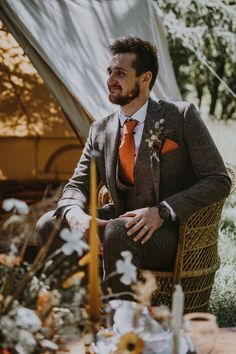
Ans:
{"label": "short pale grey candle standing beside the glass", "polygon": [[172,353],[179,354],[179,335],[182,328],[184,310],[184,293],[181,285],[175,286],[172,298],[172,318],[171,327],[173,330]]}

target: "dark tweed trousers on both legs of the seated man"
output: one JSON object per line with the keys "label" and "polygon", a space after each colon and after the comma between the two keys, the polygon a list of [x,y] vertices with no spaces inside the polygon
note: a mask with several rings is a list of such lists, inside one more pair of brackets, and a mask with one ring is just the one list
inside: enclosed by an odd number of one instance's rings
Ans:
{"label": "dark tweed trousers on both legs of the seated man", "polygon": [[[46,242],[54,229],[57,220],[53,215],[54,211],[49,211],[37,223],[36,232],[40,246]],[[112,210],[105,207],[99,209],[98,216],[101,219],[110,219],[114,217],[114,214]],[[127,236],[125,224],[128,220],[129,218],[127,217],[111,219],[105,228],[100,228],[99,236],[103,244],[104,292],[107,293],[107,289],[110,288],[112,293],[123,294],[120,298],[132,300],[132,296],[127,295],[131,290],[130,286],[120,282],[120,275],[108,277],[106,281],[106,277],[115,272],[116,262],[121,259],[121,252],[130,251],[132,253],[132,263],[137,269],[170,271],[174,266],[179,227],[175,222],[166,221],[145,244],[141,244],[140,241],[135,242],[133,240],[135,235],[132,237]],[[61,229],[65,227],[68,228],[68,225],[65,221],[62,221]],[[59,233],[60,230],[50,252],[55,251],[63,244]]]}

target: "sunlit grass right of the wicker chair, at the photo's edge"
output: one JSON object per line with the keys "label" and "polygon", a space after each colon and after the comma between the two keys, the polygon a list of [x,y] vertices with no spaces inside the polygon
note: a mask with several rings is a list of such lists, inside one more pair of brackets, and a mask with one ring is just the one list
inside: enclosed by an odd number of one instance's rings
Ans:
{"label": "sunlit grass right of the wicker chair, at the photo's edge", "polygon": [[210,311],[220,327],[236,327],[236,191],[226,200],[219,237],[221,266],[211,293]]}

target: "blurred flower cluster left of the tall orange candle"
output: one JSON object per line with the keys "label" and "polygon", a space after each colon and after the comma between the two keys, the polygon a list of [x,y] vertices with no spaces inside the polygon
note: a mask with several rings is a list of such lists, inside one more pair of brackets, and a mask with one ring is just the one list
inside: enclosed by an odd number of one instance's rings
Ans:
{"label": "blurred flower cluster left of the tall orange candle", "polygon": [[[28,206],[19,200],[8,199],[3,202],[5,211],[14,210],[14,214],[5,221],[2,230],[14,229],[14,224],[24,223],[29,213]],[[29,230],[28,230],[29,231]],[[62,237],[66,237],[66,230]],[[24,235],[25,236],[25,235]],[[72,291],[67,292],[69,266],[67,255],[75,250],[75,235],[67,235],[63,248],[47,257],[55,235],[52,235],[45,247],[42,247],[32,264],[24,261],[29,236],[11,237],[8,253],[0,254],[0,353],[44,353],[57,352],[60,345],[59,333],[63,327],[73,321],[86,318],[80,303],[84,293],[80,288],[80,279],[71,284]],[[82,254],[87,245],[77,236],[76,251]],[[60,272],[58,263],[61,263]],[[66,269],[64,272],[62,269]],[[60,273],[60,277],[58,274]],[[57,288],[57,284],[60,286]],[[67,303],[70,302],[70,308]],[[74,311],[74,308],[76,309]],[[71,318],[73,312],[73,319]],[[64,320],[66,318],[66,320]]]}

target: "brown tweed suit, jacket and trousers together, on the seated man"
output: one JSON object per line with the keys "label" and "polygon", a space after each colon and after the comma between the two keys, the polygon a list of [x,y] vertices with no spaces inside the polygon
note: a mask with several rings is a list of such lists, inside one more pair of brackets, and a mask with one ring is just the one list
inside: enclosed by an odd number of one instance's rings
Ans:
{"label": "brown tweed suit, jacket and trousers together, on the seated man", "polygon": [[[175,141],[179,148],[165,155],[153,154],[146,139],[150,130],[164,119],[166,138]],[[118,112],[92,124],[81,159],[69,183],[65,186],[55,215],[61,215],[65,207],[88,207],[89,172],[92,150],[100,152],[96,158],[99,181],[109,190],[113,205],[106,208],[106,218],[118,217],[127,211],[127,205],[135,209],[155,206],[166,200],[178,217],[176,222],[164,222],[153,236],[141,245],[127,237],[124,219],[108,223],[104,232],[104,264],[106,273],[113,272],[122,250],[130,250],[134,263],[139,267],[158,270],[173,268],[178,242],[179,223],[192,213],[221,198],[230,190],[230,179],[219,152],[209,135],[199,113],[186,102],[154,102],[149,99],[143,136],[135,165],[133,203],[127,203],[117,188],[116,167],[119,145]],[[102,217],[102,213],[100,214]],[[116,278],[110,286],[114,292],[125,291]]]}

